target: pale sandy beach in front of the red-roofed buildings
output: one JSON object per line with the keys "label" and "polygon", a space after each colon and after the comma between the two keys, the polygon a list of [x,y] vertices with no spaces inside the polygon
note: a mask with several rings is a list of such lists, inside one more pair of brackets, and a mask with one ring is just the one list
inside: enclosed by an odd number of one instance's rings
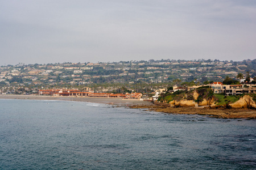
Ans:
{"label": "pale sandy beach in front of the red-roofed buildings", "polygon": [[148,101],[122,100],[122,99],[119,99],[119,98],[103,98],[103,97],[63,97],[63,96],[39,96],[39,95],[0,95],[0,99],[84,101],[84,102],[92,102],[92,103],[111,104],[111,105],[114,105],[114,106],[152,105],[152,103],[148,102]]}

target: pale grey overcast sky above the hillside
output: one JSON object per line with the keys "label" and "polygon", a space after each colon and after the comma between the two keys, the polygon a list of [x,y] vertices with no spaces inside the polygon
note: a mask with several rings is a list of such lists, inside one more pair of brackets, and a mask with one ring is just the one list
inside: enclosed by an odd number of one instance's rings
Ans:
{"label": "pale grey overcast sky above the hillside", "polygon": [[0,0],[0,65],[256,58],[255,0]]}

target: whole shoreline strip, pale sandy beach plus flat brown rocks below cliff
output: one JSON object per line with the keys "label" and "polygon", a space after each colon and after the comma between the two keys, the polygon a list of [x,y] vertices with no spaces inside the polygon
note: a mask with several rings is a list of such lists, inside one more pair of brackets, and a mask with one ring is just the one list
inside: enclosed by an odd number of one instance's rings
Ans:
{"label": "whole shoreline strip, pale sandy beach plus flat brown rocks below cliff", "polygon": [[0,95],[0,99],[20,100],[60,100],[60,101],[82,101],[90,103],[109,104],[114,107],[129,107],[133,109],[148,109],[148,111],[167,114],[199,114],[215,118],[247,118],[256,119],[256,110],[251,109],[222,109],[209,107],[166,107],[155,105],[149,101],[122,100],[120,98],[102,97],[63,97],[63,96],[39,96],[39,95]]}

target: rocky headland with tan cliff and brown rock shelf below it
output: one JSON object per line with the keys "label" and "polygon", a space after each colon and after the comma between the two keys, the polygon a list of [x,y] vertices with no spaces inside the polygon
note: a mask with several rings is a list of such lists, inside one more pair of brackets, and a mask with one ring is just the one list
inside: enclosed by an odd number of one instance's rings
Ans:
{"label": "rocky headland with tan cliff and brown rock shelf below it", "polygon": [[216,118],[256,118],[255,94],[225,96],[213,94],[210,88],[165,94],[150,111],[172,114],[201,114]]}

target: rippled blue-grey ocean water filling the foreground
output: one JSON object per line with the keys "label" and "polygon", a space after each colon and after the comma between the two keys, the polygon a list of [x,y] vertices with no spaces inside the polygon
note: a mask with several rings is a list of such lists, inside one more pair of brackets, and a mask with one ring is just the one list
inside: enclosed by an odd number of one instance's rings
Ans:
{"label": "rippled blue-grey ocean water filling the foreground", "polygon": [[0,99],[0,169],[256,169],[256,121]]}

